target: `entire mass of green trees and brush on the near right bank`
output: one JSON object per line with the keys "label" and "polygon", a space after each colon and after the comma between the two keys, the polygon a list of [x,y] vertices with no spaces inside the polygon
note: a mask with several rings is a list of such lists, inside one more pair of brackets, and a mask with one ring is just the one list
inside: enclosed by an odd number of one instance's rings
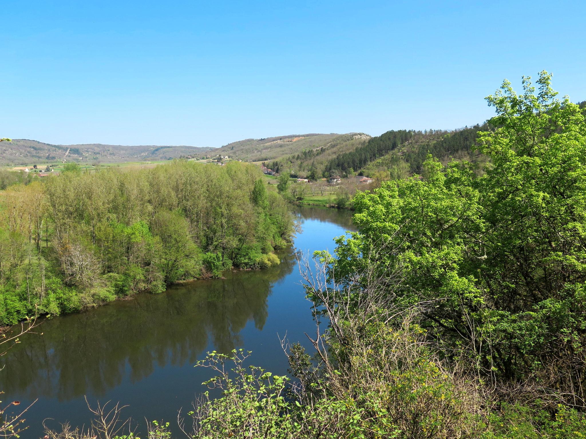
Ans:
{"label": "entire mass of green trees and brush on the near right bank", "polygon": [[290,347],[289,379],[212,352],[223,396],[185,414],[190,437],[586,436],[586,124],[537,83],[488,98],[482,177],[430,157],[357,194],[359,232],[305,265],[315,356]]}

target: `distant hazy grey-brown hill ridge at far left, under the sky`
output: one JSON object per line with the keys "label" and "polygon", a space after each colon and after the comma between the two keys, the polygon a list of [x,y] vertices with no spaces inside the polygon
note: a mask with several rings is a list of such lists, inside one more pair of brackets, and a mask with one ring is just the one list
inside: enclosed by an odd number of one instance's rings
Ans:
{"label": "distant hazy grey-brown hill ridge at far left, under the sky", "polygon": [[137,160],[168,160],[180,156],[201,155],[214,148],[193,146],[122,146],[90,143],[80,145],[51,145],[37,140],[12,139],[0,143],[0,164],[29,164],[33,162],[129,162]]}

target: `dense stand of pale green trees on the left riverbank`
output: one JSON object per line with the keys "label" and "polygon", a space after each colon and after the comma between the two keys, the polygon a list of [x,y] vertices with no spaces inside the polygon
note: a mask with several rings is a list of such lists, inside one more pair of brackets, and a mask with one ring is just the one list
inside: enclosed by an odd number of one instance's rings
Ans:
{"label": "dense stand of pale green trees on the left riverbank", "polygon": [[88,173],[71,163],[0,193],[0,325],[271,266],[291,232],[287,205],[255,166]]}

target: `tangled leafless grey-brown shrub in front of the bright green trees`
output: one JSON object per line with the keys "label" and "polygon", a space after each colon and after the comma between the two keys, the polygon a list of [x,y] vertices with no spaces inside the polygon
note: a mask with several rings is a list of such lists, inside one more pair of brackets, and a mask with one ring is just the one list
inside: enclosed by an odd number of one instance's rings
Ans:
{"label": "tangled leafless grey-brown shrub in front of the bright green trees", "polygon": [[[308,296],[314,301],[316,332],[306,335],[319,356],[318,375],[327,379],[324,395],[353,400],[369,395],[384,401],[387,416],[405,437],[473,436],[475,423],[455,420],[462,416],[481,419],[490,398],[467,365],[447,363],[437,350],[430,349],[431,341],[418,325],[422,315],[440,299],[402,303],[400,297],[407,291],[404,267],[397,263],[381,270],[374,263],[378,253],[393,249],[386,243],[373,248],[378,250],[363,256],[364,268],[349,276],[339,276],[333,259],[325,253],[313,264],[307,257],[299,260]],[[322,316],[328,331],[320,328]],[[427,371],[422,364],[432,367]],[[417,379],[411,378],[418,373]],[[445,386],[454,397],[448,400],[426,394],[425,388],[432,382]],[[420,396],[411,400],[389,389]],[[319,404],[314,405],[314,399],[308,397],[306,387],[301,385],[296,390],[305,404],[319,409]],[[430,419],[437,427],[435,433],[424,427]],[[323,427],[315,424],[308,428],[319,431]]]}

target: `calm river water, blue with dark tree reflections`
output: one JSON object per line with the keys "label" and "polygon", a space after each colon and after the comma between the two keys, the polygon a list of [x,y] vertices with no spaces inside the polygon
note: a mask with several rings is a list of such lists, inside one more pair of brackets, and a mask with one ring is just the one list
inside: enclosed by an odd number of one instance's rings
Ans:
{"label": "calm river water, blue with dark tree reflections", "polygon": [[302,232],[277,267],[139,294],[44,321],[43,335],[22,337],[0,360],[2,400],[20,400],[23,407],[39,399],[22,437],[42,436],[47,418],[50,427],[87,424],[84,396],[129,404],[124,414],[138,431],[145,430],[145,417],[169,421],[176,431],[178,410],[206,390],[201,383],[210,376],[193,365],[214,349],[244,348],[253,351],[250,363],[286,373],[278,337],[307,345],[304,332],[315,331],[295,252],[332,251],[332,239],[354,229],[347,211],[298,207],[295,214]]}

